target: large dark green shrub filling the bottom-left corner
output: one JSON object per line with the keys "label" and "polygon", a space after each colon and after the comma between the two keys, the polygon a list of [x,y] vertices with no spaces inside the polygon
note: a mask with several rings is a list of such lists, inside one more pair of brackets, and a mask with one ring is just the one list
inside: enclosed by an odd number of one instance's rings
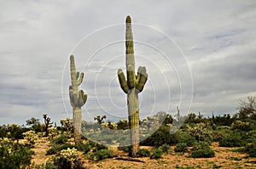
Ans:
{"label": "large dark green shrub filling the bottom-left corner", "polygon": [[0,168],[26,168],[31,164],[33,153],[22,144],[3,139],[0,142]]}

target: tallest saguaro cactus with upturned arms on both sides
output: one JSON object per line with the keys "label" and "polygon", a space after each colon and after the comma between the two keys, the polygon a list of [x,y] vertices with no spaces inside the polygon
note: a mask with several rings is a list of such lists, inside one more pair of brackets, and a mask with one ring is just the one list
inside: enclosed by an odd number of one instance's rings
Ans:
{"label": "tallest saguaro cactus with upturned arms on both sides", "polygon": [[133,37],[131,31],[131,17],[126,17],[125,33],[125,54],[126,54],[126,78],[123,70],[118,70],[119,84],[127,94],[127,105],[129,115],[129,129],[131,140],[131,156],[136,157],[139,150],[139,108],[138,93],[143,91],[143,87],[148,80],[146,67],[139,66],[137,75],[135,74],[135,58],[133,51]]}

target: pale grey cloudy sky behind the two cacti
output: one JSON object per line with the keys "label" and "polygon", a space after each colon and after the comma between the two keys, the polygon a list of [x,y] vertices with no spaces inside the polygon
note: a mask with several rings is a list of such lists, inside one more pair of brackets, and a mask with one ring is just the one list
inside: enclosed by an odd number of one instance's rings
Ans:
{"label": "pale grey cloudy sky behind the two cacti", "polygon": [[179,106],[207,116],[237,112],[256,95],[256,2],[0,1],[0,124],[72,115],[69,55],[85,72],[83,118],[126,118],[117,70],[125,70],[125,16],[136,66],[148,82],[141,118]]}

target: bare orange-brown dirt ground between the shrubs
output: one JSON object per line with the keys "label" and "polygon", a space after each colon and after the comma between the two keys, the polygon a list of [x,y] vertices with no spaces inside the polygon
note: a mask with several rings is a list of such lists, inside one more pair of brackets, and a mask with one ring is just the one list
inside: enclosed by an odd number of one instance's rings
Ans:
{"label": "bare orange-brown dirt ground between the shrubs", "polygon": [[[256,158],[249,158],[247,154],[241,152],[232,152],[232,149],[237,148],[222,148],[218,147],[218,143],[212,143],[211,148],[215,151],[215,156],[212,158],[190,158],[189,153],[180,154],[174,152],[174,147],[170,147],[170,153],[163,155],[160,160],[152,160],[148,157],[138,158],[142,162],[136,161],[122,161],[114,159],[106,159],[103,161],[88,161],[83,159],[84,166],[92,169],[134,169],[134,168],[256,168]],[[150,147],[141,147],[151,149]],[[32,161],[35,164],[43,164],[49,159],[49,155],[45,155],[46,150],[49,149],[49,141],[47,139],[40,140],[33,150],[35,155],[33,155]],[[115,152],[117,150],[115,149]],[[125,155],[119,152],[119,156]],[[126,156],[127,157],[127,156]],[[251,161],[251,162],[250,162]]]}

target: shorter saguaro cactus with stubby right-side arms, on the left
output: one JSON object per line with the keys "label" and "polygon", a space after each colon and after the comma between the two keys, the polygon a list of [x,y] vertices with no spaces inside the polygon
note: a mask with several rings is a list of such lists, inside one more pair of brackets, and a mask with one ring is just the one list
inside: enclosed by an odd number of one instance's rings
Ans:
{"label": "shorter saguaro cactus with stubby right-side arms, on the left", "polygon": [[71,86],[69,86],[69,99],[73,107],[73,132],[75,144],[81,142],[81,124],[82,124],[82,110],[81,107],[87,100],[87,94],[83,90],[79,90],[79,85],[83,82],[84,73],[79,75],[76,70],[74,57],[70,56],[70,76]]}

